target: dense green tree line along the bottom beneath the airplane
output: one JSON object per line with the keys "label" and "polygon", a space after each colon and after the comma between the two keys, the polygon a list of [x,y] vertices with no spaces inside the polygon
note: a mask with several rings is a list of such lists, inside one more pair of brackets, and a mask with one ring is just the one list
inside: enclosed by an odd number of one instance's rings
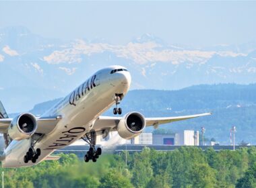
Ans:
{"label": "dense green tree line along the bottom beneath the airplane", "polygon": [[144,148],[103,154],[96,163],[61,154],[60,160],[1,171],[5,187],[256,187],[256,148]]}

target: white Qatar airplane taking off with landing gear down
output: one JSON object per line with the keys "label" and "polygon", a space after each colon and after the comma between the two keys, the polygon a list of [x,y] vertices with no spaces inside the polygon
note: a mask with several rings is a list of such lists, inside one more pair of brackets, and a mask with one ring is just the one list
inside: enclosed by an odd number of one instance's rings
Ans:
{"label": "white Qatar airplane taking off with landing gear down", "polygon": [[96,148],[98,135],[106,138],[109,132],[118,132],[121,138],[131,139],[141,134],[146,126],[158,128],[160,124],[211,115],[145,118],[131,111],[123,117],[102,116],[113,105],[115,115],[122,113],[119,103],[130,85],[131,75],[127,68],[115,65],[96,72],[40,117],[20,113],[15,118],[8,118],[0,102],[0,132],[6,145],[0,157],[2,167],[28,167],[43,160],[58,160],[59,156],[51,154],[80,138],[90,144],[85,162],[96,162],[102,153],[100,147]]}

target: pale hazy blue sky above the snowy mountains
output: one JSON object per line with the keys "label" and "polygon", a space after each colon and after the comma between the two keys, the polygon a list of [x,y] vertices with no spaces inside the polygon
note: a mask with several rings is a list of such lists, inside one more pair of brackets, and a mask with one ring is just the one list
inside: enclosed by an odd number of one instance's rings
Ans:
{"label": "pale hazy blue sky above the snowy mountains", "polygon": [[114,44],[145,33],[169,44],[241,44],[256,41],[255,10],[255,1],[0,1],[0,28]]}

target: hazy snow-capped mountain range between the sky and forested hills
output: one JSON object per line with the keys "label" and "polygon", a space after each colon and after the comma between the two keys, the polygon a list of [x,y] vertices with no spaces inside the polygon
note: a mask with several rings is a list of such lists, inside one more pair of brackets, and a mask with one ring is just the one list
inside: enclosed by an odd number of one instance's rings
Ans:
{"label": "hazy snow-capped mountain range between the sky and forested hills", "polygon": [[129,69],[131,89],[256,83],[256,42],[193,48],[144,34],[127,44],[111,44],[101,39],[44,38],[22,26],[0,29],[0,99],[7,111],[26,111],[64,97],[112,64]]}

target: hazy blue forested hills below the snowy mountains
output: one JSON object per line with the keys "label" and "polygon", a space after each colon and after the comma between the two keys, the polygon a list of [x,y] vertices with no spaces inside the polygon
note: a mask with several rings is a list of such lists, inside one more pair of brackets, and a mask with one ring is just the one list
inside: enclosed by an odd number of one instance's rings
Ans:
{"label": "hazy blue forested hills below the snowy mountains", "polygon": [[[30,111],[42,114],[59,99],[35,105]],[[163,125],[173,132],[206,129],[205,137],[222,144],[230,143],[230,128],[236,126],[236,140],[256,144],[256,85],[197,85],[177,91],[133,90],[121,102],[123,115],[140,111],[148,117],[189,115],[212,112],[213,115]],[[109,109],[104,115],[113,115]],[[150,132],[153,128],[148,128]]]}

